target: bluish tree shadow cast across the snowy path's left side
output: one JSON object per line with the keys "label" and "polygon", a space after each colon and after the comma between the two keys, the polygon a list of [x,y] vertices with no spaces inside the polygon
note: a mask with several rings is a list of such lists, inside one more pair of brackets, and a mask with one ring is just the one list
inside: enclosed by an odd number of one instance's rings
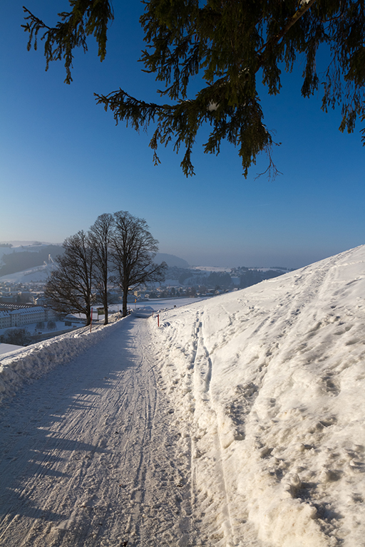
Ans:
{"label": "bluish tree shadow cast across the snowy path's left side", "polygon": [[[72,477],[82,482],[94,459],[108,458],[106,439],[115,433],[115,424],[97,412],[97,402],[110,387],[118,394],[128,370],[138,365],[130,349],[133,322],[111,326],[96,345],[25,385],[0,409],[0,535],[15,518],[67,519],[61,494],[53,509],[47,500],[55,490],[76,499],[82,489],[73,488]],[[102,434],[95,435],[93,427]]]}

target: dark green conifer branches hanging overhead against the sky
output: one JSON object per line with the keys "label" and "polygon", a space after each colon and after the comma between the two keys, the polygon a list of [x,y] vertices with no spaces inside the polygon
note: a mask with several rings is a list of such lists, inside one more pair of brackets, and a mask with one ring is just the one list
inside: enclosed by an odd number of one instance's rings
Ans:
{"label": "dark green conifer branches hanging overhead against the sky", "polygon": [[[69,0],[71,11],[58,14],[56,27],[47,26],[24,8],[28,48],[44,41],[46,68],[64,60],[66,83],[71,83],[73,48],[87,49],[87,37],[106,56],[108,25],[113,8],[108,0]],[[155,164],[158,145],[185,147],[183,172],[194,174],[191,154],[197,131],[211,126],[204,152],[218,154],[222,140],[238,147],[243,173],[260,152],[269,156],[274,140],[264,125],[257,85],[268,93],[281,88],[282,71],[303,63],[302,95],[322,87],[322,109],[341,108],[341,131],[354,131],[356,118],[365,119],[365,4],[363,0],[145,0],[140,24],[146,48],[145,71],[163,83],[167,101],[146,103],[121,88],[96,94],[97,103],[135,130],[155,124],[150,140]],[[327,68],[317,71],[324,48]],[[200,90],[190,97],[189,84],[201,78]],[[365,130],[363,140],[365,141]]]}

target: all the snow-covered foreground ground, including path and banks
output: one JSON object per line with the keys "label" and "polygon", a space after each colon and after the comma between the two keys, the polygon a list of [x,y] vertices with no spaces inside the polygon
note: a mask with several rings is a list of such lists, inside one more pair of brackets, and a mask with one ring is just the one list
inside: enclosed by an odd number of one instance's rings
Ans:
{"label": "all the snow-covered foreground ground, including path and banks", "polygon": [[0,543],[364,546],[364,295],[361,246],[0,357]]}

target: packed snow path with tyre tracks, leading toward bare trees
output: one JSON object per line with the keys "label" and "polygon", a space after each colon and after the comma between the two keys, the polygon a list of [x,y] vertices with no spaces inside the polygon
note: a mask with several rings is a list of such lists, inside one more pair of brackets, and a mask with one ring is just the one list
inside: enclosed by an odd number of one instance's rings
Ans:
{"label": "packed snow path with tyre tracks, leading toward bare trees", "polygon": [[1,545],[192,541],[190,457],[170,429],[146,330],[132,318],[110,325],[2,410]]}

